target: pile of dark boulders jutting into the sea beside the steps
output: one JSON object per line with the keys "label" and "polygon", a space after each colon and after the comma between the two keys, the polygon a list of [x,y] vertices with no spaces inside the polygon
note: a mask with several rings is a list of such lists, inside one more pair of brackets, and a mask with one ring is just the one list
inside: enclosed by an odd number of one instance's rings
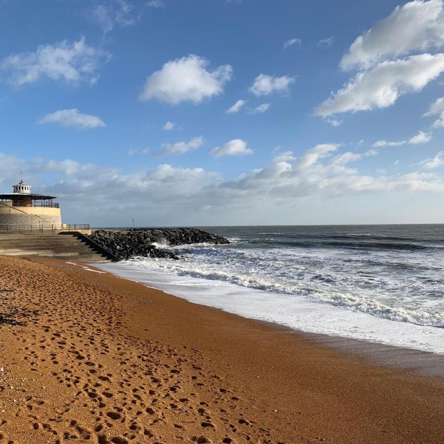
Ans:
{"label": "pile of dark boulders jutting into the sea beside the steps", "polygon": [[229,244],[228,239],[197,228],[133,228],[130,230],[97,230],[88,236],[96,244],[124,260],[136,256],[180,259],[175,253],[157,248],[156,244]]}

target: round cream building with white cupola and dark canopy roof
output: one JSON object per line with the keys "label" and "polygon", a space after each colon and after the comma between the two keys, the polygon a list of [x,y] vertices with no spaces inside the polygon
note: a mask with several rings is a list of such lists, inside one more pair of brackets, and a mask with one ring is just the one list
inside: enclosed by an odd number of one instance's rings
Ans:
{"label": "round cream building with white cupola and dark canopy roof", "polygon": [[0,231],[60,230],[62,218],[55,196],[35,194],[23,179],[12,193],[0,194]]}

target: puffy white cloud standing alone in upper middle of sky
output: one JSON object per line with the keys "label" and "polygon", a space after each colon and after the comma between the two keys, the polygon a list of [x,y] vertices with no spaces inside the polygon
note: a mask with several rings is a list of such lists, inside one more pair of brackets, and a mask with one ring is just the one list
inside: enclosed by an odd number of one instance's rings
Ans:
{"label": "puffy white cloud standing alone in upper middle of sky", "polygon": [[199,104],[205,99],[222,94],[233,69],[222,65],[208,71],[210,62],[191,54],[165,63],[161,70],[148,76],[139,99],[157,99],[172,105],[181,102]]}

